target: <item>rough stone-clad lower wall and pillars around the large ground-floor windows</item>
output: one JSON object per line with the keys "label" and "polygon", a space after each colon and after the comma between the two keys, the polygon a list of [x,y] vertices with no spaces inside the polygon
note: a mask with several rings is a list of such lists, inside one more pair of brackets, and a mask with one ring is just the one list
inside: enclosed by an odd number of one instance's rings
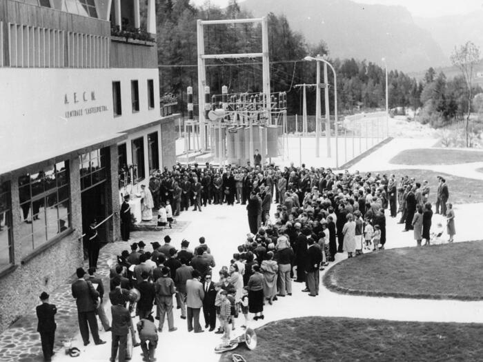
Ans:
{"label": "rough stone-clad lower wall and pillars around the large ground-floor windows", "polygon": [[16,268],[0,276],[0,332],[39,303],[44,290],[51,292],[75,273],[82,265],[81,192],[79,179],[79,157],[70,159],[70,202],[72,232],[58,241],[52,241],[49,248],[32,259],[22,262],[26,255],[21,253],[19,224],[22,222],[19,205],[19,174],[10,178],[12,190],[12,231],[14,238],[14,264]]}

